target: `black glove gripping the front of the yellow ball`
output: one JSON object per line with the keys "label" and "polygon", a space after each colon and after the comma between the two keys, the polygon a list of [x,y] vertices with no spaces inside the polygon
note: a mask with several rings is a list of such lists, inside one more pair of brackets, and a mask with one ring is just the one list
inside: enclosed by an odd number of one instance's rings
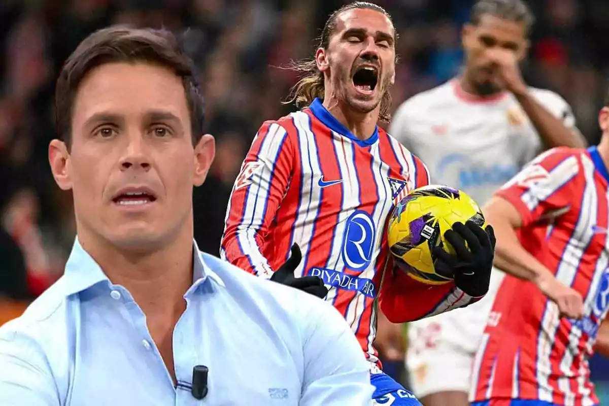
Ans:
{"label": "black glove gripping the front of the yellow ball", "polygon": [[487,228],[483,229],[472,221],[466,222],[465,225],[454,223],[452,229],[444,233],[444,238],[452,245],[456,256],[447,253],[442,247],[435,247],[436,272],[454,278],[455,285],[470,296],[486,295],[495,257],[496,240],[493,227],[487,225]]}

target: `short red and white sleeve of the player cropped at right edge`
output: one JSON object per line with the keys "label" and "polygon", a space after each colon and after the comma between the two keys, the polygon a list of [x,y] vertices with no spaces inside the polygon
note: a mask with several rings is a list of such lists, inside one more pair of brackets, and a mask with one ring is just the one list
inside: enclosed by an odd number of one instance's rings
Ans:
{"label": "short red and white sleeve of the player cropped at right edge", "polygon": [[582,172],[582,150],[557,147],[544,152],[506,183],[496,196],[512,203],[522,225],[555,217],[570,207]]}

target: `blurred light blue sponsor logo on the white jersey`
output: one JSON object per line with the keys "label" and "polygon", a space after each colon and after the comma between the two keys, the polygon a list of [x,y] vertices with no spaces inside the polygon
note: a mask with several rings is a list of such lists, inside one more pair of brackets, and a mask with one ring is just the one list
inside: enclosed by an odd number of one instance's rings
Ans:
{"label": "blurred light blue sponsor logo on the white jersey", "polygon": [[457,175],[457,189],[480,186],[501,186],[518,172],[515,164],[483,165],[462,153],[446,155],[438,163],[435,173],[439,178]]}

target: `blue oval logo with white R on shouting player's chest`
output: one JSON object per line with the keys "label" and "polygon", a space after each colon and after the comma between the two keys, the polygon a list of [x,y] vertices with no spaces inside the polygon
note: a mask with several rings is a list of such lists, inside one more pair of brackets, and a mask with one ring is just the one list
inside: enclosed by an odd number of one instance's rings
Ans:
{"label": "blue oval logo with white R on shouting player's chest", "polygon": [[348,268],[359,271],[370,265],[375,239],[376,228],[370,214],[354,211],[343,234],[342,257]]}

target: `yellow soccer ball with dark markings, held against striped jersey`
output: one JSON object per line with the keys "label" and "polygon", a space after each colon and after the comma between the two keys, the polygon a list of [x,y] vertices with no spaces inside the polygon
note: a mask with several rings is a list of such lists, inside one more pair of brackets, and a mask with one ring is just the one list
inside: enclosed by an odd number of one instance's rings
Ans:
{"label": "yellow soccer ball with dark markings, held against striped jersey", "polygon": [[426,284],[452,281],[451,275],[439,275],[435,271],[432,249],[440,246],[455,254],[444,233],[454,223],[468,220],[485,227],[480,207],[463,191],[429,185],[410,192],[393,209],[387,228],[389,249],[396,265],[411,278]]}

